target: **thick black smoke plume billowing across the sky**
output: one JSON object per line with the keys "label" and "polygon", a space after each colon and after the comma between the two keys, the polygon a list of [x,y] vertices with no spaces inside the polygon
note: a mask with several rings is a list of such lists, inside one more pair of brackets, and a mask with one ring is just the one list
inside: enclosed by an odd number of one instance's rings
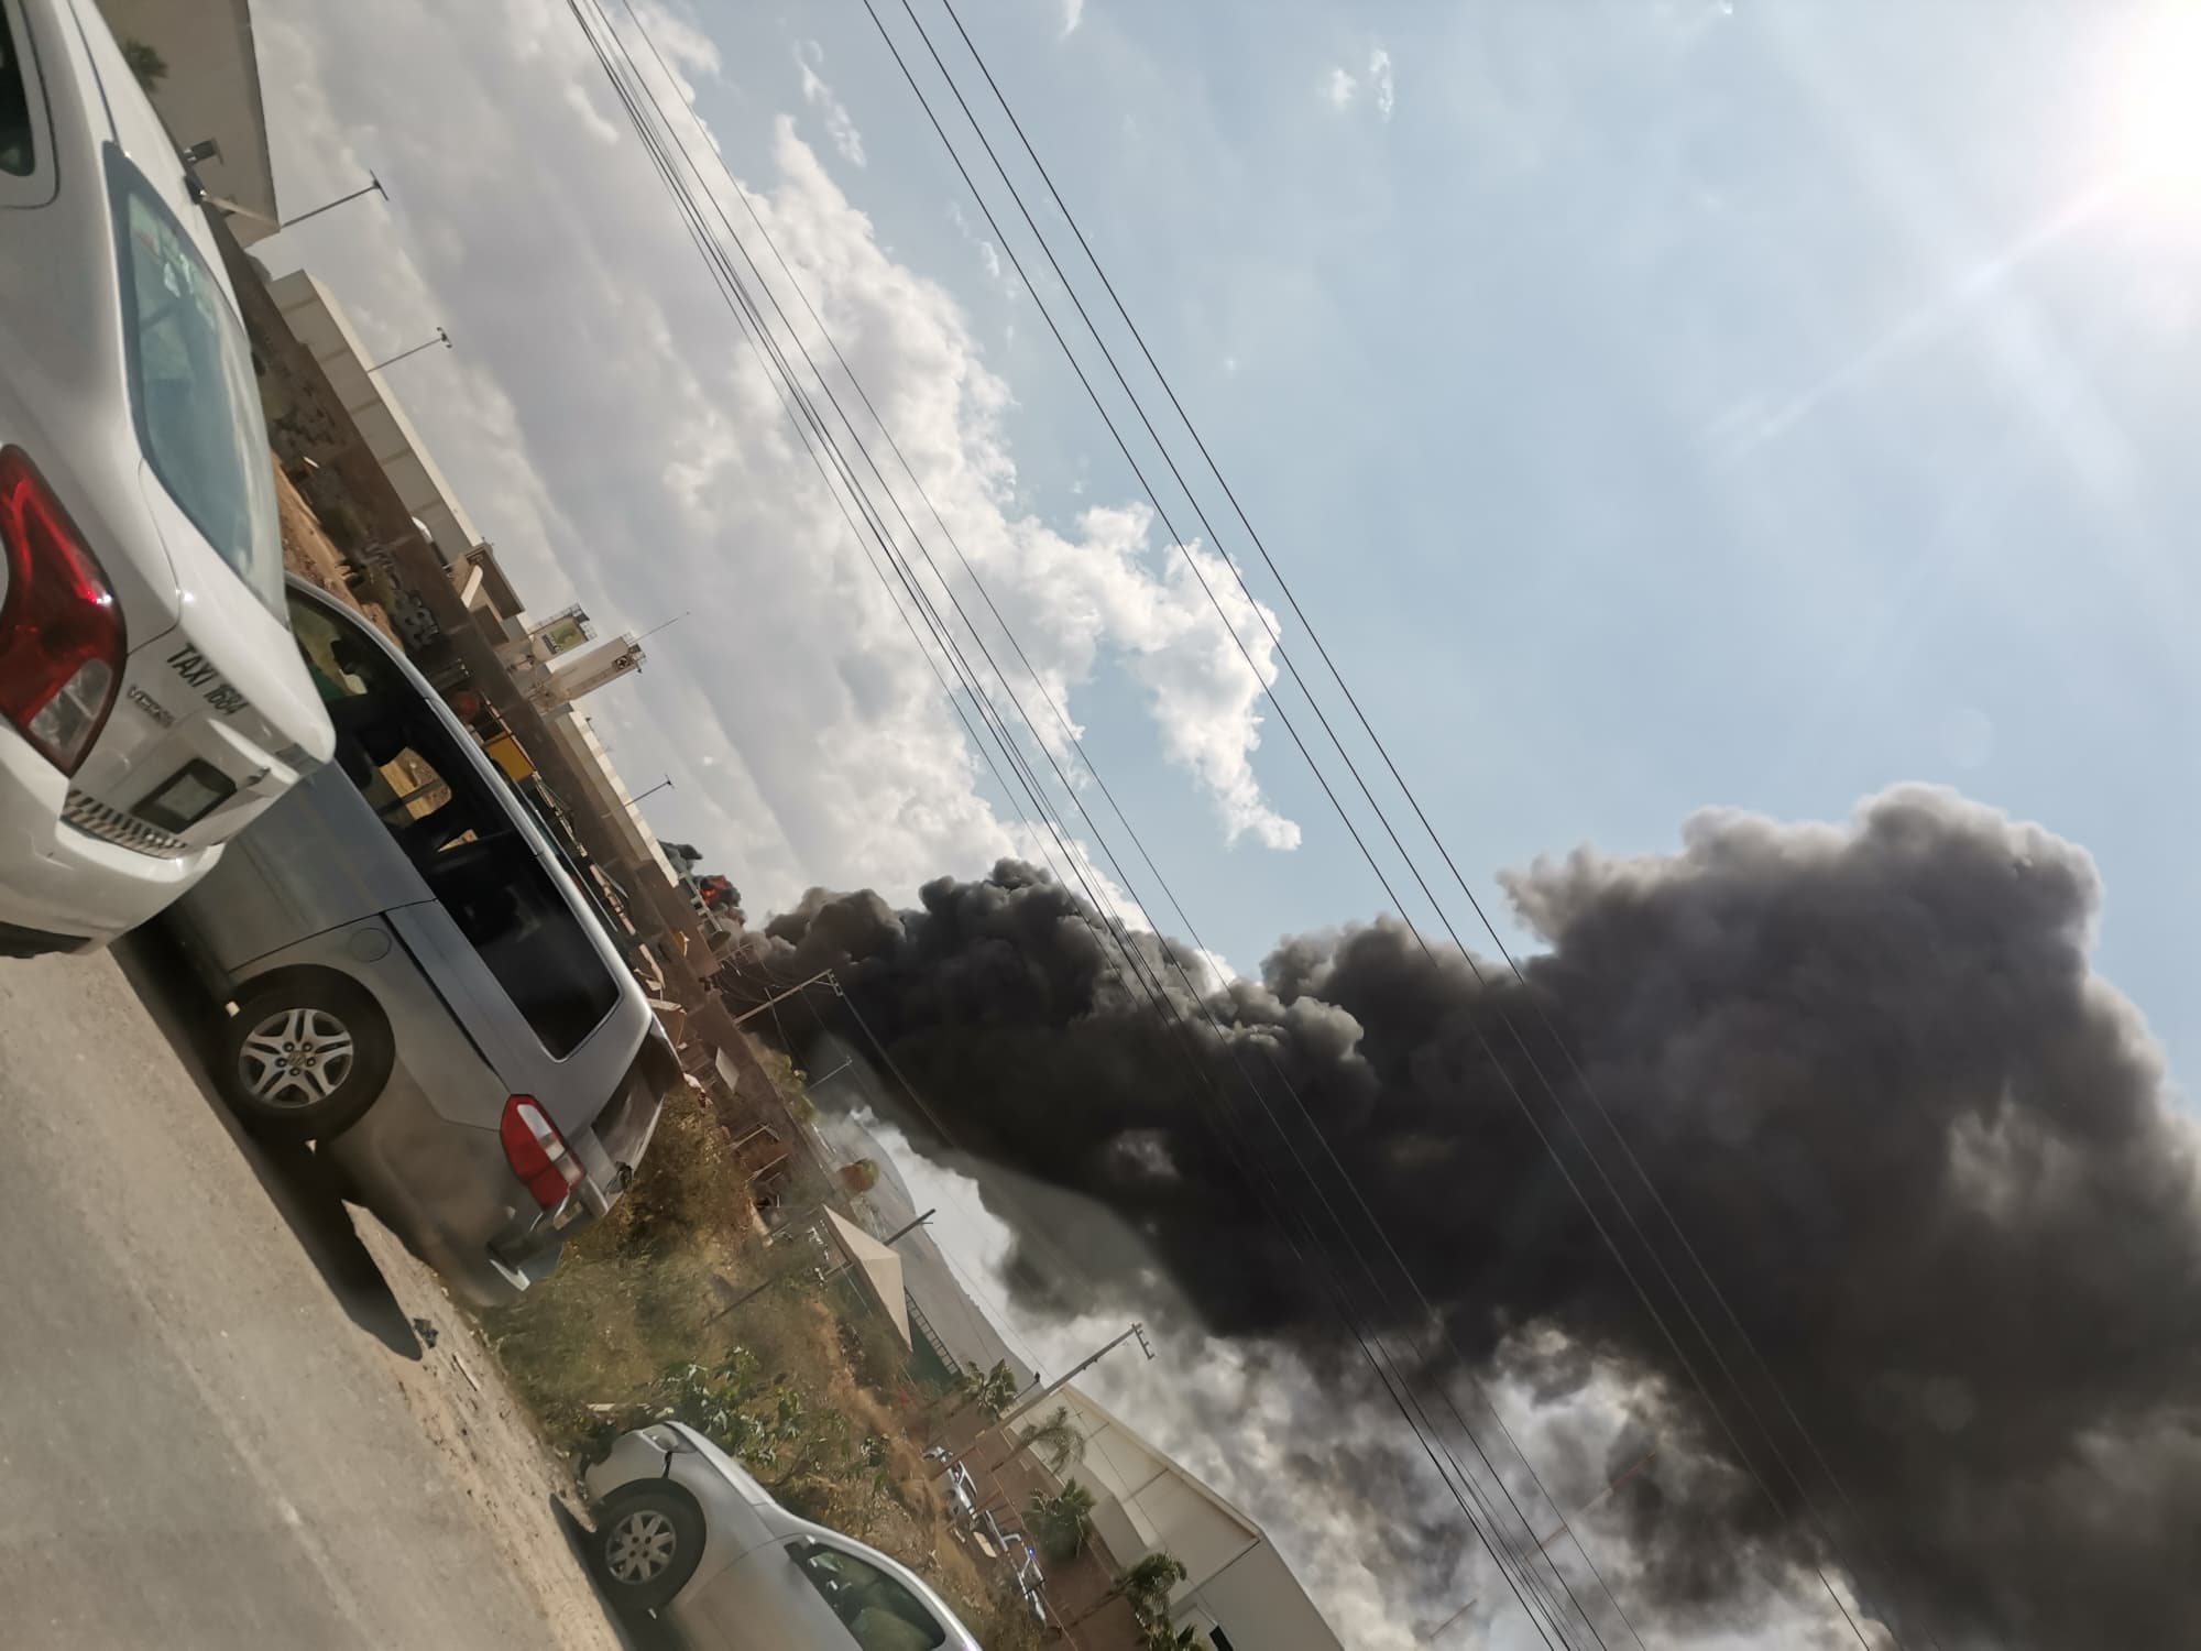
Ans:
{"label": "thick black smoke plume billowing across the sky", "polygon": [[[1673,1607],[1825,1561],[1904,1644],[2201,1644],[2194,1129],[2089,969],[2089,856],[1906,788],[1847,828],[1704,814],[1677,854],[1585,850],[1508,889],[1543,942],[1525,984],[1376,920],[1285,940],[1259,984],[1213,993],[1222,1035],[1158,1013],[1092,911],[1017,863],[929,883],[916,911],[814,892],[766,953],[839,966],[964,1151],[1114,1209],[1213,1334],[1349,1347],[1292,1250],[1296,1222],[1305,1244],[1327,1220],[1305,1162],[1373,1250],[1365,1195],[1468,1365],[1527,1358],[1552,1393],[1627,1371],[1697,1451],[1616,1497]],[[1193,1015],[1182,988],[1175,1008]],[[1340,1268],[1356,1310],[1420,1323],[1395,1275]]]}

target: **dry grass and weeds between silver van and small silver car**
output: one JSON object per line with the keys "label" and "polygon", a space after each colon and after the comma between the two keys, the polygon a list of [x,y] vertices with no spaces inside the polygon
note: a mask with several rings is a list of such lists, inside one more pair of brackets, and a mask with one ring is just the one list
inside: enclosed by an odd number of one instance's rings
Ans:
{"label": "dry grass and weeds between silver van and small silver car", "polygon": [[[814,1169],[790,1202],[847,1211]],[[676,1098],[612,1215],[482,1327],[555,1446],[585,1457],[674,1411],[788,1508],[931,1581],[988,1651],[1037,1647],[1021,1605],[946,1534],[920,1457],[933,1396],[878,1303],[850,1275],[819,1279],[836,1259],[808,1237],[768,1242],[715,1116]]]}

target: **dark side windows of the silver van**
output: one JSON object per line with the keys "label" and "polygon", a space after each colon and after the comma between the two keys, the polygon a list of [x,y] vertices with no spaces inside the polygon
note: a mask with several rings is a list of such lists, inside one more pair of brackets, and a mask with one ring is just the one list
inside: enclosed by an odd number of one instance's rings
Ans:
{"label": "dark side windows of the silver van", "polygon": [[572,1054],[618,1004],[566,892],[420,691],[346,625],[293,603],[337,762],[544,1048]]}

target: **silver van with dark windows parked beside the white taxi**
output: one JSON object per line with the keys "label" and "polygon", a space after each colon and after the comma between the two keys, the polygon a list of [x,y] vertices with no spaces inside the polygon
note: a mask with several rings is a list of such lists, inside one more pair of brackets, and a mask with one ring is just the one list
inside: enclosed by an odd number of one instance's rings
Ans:
{"label": "silver van with dark windows parked beside the white taxi", "polygon": [[530,810],[352,610],[293,579],[337,759],[174,907],[213,1076],[414,1253],[511,1301],[634,1178],[680,1061]]}

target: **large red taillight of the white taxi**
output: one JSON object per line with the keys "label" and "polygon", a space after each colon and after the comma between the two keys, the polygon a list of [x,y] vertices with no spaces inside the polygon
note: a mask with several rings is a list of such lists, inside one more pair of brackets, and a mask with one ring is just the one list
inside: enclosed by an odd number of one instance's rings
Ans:
{"label": "large red taillight of the white taxi", "polygon": [[114,707],[123,616],[99,559],[20,447],[0,447],[0,715],[64,775]]}

